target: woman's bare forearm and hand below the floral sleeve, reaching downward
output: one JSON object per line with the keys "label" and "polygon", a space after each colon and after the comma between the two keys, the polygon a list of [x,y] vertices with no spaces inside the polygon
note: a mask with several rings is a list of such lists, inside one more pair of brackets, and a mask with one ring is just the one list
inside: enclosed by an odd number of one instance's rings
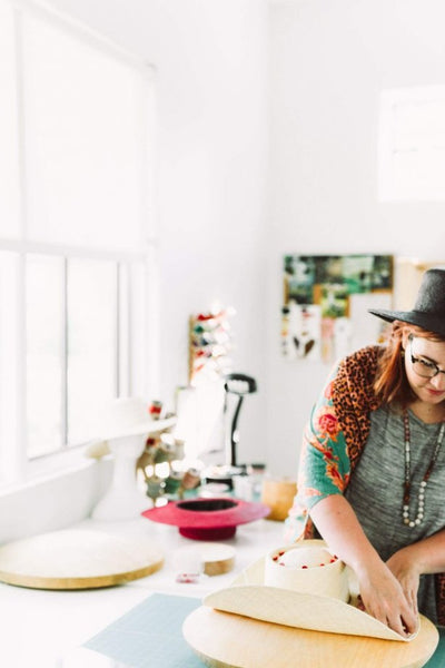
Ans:
{"label": "woman's bare forearm and hand below the floral sleeve, reaching downward", "polygon": [[345,497],[322,499],[310,515],[329,549],[356,573],[366,611],[400,636],[413,633],[418,623],[417,607],[408,601],[397,573],[382,561],[366,538]]}

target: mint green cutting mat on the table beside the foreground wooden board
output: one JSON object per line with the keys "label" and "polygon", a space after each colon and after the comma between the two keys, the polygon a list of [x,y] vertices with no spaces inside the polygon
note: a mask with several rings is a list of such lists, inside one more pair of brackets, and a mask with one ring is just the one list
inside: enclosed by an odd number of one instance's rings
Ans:
{"label": "mint green cutting mat on the table beside the foreground wooden board", "polygon": [[131,668],[204,668],[181,630],[200,605],[198,598],[152,593],[83,647]]}

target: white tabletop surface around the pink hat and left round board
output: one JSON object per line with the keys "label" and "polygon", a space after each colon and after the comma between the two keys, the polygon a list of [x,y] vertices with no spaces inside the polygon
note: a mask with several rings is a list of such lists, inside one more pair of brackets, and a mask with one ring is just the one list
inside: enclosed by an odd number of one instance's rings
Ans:
{"label": "white tabletop surface around the pink hat and left round board", "polygon": [[[177,583],[175,554],[196,544],[179,534],[176,527],[146,519],[127,522],[86,520],[83,528],[144,533],[165,549],[165,566],[158,572],[125,586],[107,589],[47,591],[0,583],[0,664],[8,668],[118,668],[103,657],[79,649],[117,618],[152,592],[201,598],[214,589],[227,587],[244,568],[269,550],[284,544],[281,522],[257,520],[237,528],[224,541],[236,550],[235,568],[228,573],[201,577],[198,583]],[[86,656],[91,656],[88,662]],[[99,658],[97,661],[96,659]]]}

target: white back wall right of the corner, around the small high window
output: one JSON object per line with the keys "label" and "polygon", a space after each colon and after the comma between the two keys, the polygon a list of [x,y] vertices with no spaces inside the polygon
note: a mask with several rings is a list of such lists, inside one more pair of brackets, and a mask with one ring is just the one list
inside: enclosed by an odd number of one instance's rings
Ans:
{"label": "white back wall right of the corner, around the small high window", "polygon": [[[445,258],[444,203],[377,200],[379,91],[443,85],[442,0],[295,0],[271,16],[268,459],[295,471],[328,372],[278,352],[281,256]],[[369,315],[369,317],[373,317]]]}

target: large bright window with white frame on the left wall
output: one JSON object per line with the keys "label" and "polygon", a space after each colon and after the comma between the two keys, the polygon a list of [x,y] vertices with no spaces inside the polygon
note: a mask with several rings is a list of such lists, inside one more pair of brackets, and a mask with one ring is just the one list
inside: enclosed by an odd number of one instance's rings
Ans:
{"label": "large bright window with white frame on the left wall", "polygon": [[0,102],[1,483],[145,392],[151,68],[0,0]]}

